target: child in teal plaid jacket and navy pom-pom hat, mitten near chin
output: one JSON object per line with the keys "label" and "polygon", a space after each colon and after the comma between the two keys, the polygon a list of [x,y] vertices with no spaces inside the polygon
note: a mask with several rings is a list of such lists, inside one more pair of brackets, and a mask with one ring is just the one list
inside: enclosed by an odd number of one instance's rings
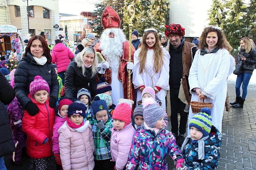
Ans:
{"label": "child in teal plaid jacket and navy pom-pom hat, mitten near chin", "polygon": [[92,102],[92,135],[94,139],[94,169],[114,169],[115,162],[111,160],[110,138],[113,127],[112,118],[108,116],[108,106],[105,100],[95,96]]}

